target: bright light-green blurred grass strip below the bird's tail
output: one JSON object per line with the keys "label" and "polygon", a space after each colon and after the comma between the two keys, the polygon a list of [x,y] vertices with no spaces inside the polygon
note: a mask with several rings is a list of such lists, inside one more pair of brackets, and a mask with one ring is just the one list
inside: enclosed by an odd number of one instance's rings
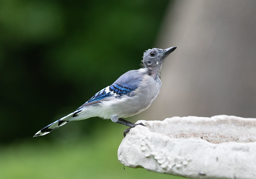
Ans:
{"label": "bright light-green blurred grass strip below the bird's tail", "polygon": [[[117,131],[118,130],[118,131]],[[51,143],[44,138],[0,148],[1,178],[173,178],[170,176],[123,166],[117,160],[117,148],[122,130],[110,126],[108,135],[97,135],[79,141],[58,140]],[[100,134],[96,130],[97,134]]]}

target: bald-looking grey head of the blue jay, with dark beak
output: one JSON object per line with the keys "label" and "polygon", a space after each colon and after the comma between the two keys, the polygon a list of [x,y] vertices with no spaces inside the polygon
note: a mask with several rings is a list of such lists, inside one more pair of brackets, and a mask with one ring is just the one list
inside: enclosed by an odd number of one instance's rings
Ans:
{"label": "bald-looking grey head of the blue jay, with dark beak", "polygon": [[166,48],[166,49],[161,49],[161,48],[152,48],[152,49],[148,49],[146,50],[146,52],[144,52],[143,54],[143,66],[146,68],[158,68],[160,69],[164,59],[172,52],[174,52],[174,50],[177,47],[170,47],[170,48]]}

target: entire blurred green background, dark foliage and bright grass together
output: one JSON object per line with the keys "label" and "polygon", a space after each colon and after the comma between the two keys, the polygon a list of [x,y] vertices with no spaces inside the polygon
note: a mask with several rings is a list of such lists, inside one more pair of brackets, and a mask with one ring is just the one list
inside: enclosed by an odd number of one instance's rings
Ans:
{"label": "entire blurred green background, dark foliage and bright grass together", "polygon": [[1,178],[179,178],[124,170],[117,149],[125,126],[111,121],[72,122],[32,138],[140,68],[170,4],[0,1]]}

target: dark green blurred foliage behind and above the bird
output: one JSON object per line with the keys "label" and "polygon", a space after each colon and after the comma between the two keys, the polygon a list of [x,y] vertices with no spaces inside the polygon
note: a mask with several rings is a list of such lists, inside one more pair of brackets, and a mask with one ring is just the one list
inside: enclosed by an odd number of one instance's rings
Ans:
{"label": "dark green blurred foliage behind and above the bird", "polygon": [[[32,138],[122,73],[138,69],[144,50],[153,47],[167,4],[0,1],[0,141]],[[90,120],[69,125],[69,131],[74,137],[90,135],[110,124]]]}

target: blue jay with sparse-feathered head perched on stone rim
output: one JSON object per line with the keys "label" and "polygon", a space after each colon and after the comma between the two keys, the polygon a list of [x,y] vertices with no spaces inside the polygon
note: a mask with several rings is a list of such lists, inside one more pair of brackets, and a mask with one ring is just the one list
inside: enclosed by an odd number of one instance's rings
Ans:
{"label": "blue jay with sparse-feathered head perched on stone rim", "polygon": [[142,68],[122,74],[112,85],[92,96],[74,112],[62,117],[38,131],[34,137],[49,134],[58,127],[76,120],[100,117],[128,126],[125,137],[136,125],[123,118],[146,110],[158,96],[161,89],[160,69],[166,57],[177,47],[152,48],[143,53]]}

